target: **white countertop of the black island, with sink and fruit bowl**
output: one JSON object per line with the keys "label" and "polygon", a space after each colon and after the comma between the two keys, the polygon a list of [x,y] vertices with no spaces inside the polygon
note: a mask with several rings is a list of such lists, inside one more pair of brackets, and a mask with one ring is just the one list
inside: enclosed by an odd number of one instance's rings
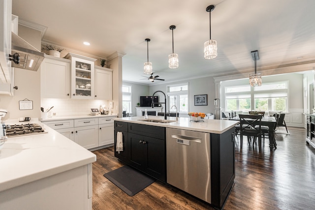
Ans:
{"label": "white countertop of the black island, with sink and fruit bowl", "polygon": [[[190,121],[190,118],[178,118],[178,121],[168,122],[168,123],[157,123],[157,122],[147,122],[141,121],[144,117],[131,117],[131,118],[116,118],[114,120],[125,121],[125,122],[134,122],[138,124],[147,124],[155,125],[160,127],[169,127],[169,128],[178,128],[184,130],[200,131],[207,133],[217,133],[221,134],[227,131],[228,129],[234,127],[239,122],[236,120],[208,120],[204,121]],[[160,116],[148,116],[148,119],[161,119],[164,120],[164,117]],[[176,120],[175,117],[167,117],[167,120]]]}

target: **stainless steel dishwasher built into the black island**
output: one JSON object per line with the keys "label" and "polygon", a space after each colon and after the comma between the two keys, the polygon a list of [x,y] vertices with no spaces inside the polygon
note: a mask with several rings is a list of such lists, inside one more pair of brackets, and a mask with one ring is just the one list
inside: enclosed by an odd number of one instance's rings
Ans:
{"label": "stainless steel dishwasher built into the black island", "polygon": [[210,133],[166,128],[167,183],[211,203]]}

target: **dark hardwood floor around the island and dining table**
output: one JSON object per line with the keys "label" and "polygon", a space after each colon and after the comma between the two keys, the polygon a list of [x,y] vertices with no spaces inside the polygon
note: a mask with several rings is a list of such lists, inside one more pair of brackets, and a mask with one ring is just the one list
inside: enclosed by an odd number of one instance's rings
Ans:
{"label": "dark hardwood floor around the island and dining table", "polygon": [[[285,129],[285,128],[284,128]],[[304,128],[288,127],[290,135],[277,134],[278,149],[270,152],[269,140],[248,145],[236,138],[236,178],[225,210],[314,210],[315,149],[306,145]],[[156,181],[133,197],[103,174],[123,166],[114,148],[94,151],[94,210],[205,210],[210,205],[187,193]]]}

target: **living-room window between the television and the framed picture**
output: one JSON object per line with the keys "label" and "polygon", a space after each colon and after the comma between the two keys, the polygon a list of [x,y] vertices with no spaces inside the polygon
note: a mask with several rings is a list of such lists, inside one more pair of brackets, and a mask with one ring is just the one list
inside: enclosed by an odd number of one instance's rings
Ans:
{"label": "living-room window between the television and the framed picture", "polygon": [[[188,83],[171,85],[166,88],[168,108],[170,109],[173,105],[175,105],[177,107],[177,112],[187,114],[189,110]],[[172,111],[176,111],[175,107],[172,108]]]}

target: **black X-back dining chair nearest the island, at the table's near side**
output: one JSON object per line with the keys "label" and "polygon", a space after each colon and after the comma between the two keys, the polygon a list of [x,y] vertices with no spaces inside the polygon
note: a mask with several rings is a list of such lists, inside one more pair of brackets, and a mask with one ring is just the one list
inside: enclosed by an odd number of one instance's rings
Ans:
{"label": "black X-back dining chair nearest the island, at the table's near side", "polygon": [[262,115],[239,115],[240,117],[240,135],[241,135],[241,147],[243,145],[243,136],[247,136],[248,143],[251,143],[253,138],[254,145],[255,140],[258,138],[258,147],[261,150],[261,119]]}

